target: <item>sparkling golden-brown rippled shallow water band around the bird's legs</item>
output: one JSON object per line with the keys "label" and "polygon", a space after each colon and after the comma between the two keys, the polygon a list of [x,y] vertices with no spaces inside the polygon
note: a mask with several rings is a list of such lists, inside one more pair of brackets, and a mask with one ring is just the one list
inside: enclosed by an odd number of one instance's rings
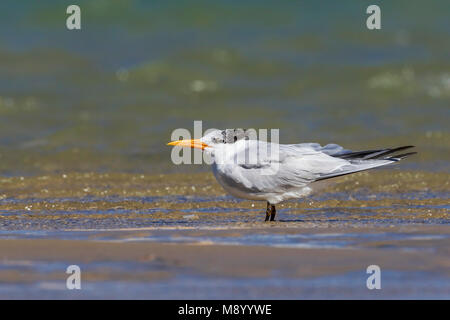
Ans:
{"label": "sparkling golden-brown rippled shallow water band around the bird's legs", "polygon": [[[279,205],[277,218],[284,224],[446,224],[449,183],[437,173],[358,173]],[[228,196],[212,174],[79,173],[5,178],[0,186],[4,230],[228,227],[264,216],[264,204]]]}

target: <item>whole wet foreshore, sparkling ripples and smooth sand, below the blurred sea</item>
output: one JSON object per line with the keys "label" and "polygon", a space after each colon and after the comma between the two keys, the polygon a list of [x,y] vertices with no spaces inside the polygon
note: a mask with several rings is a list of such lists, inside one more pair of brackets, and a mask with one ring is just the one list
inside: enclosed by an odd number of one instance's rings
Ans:
{"label": "whole wet foreshore, sparkling ripples and smooth sand, below the blurred sea", "polygon": [[[449,298],[447,174],[379,170],[286,202],[207,174],[0,179],[0,298]],[[82,290],[67,290],[68,265]],[[366,268],[382,270],[368,290]]]}

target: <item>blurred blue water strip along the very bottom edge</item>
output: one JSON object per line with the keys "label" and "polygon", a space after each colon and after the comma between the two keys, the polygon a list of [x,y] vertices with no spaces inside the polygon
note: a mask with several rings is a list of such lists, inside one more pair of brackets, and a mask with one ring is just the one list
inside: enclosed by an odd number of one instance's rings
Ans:
{"label": "blurred blue water strip along the very bottom edge", "polygon": [[252,280],[184,275],[150,284],[119,281],[100,285],[94,282],[85,285],[81,292],[68,291],[58,281],[46,281],[31,286],[1,286],[0,296],[20,299],[24,290],[27,290],[29,298],[35,299],[186,299],[186,290],[189,291],[189,299],[398,299],[399,296],[404,299],[442,299],[449,296],[449,283],[442,283],[442,279],[434,274],[386,272],[384,280],[389,285],[383,288],[382,294],[361,288],[366,277],[364,272],[311,279]]}

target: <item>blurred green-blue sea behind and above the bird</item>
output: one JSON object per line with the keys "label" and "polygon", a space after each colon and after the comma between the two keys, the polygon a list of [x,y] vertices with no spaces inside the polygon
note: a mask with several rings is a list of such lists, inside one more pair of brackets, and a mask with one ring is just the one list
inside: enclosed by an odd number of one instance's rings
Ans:
{"label": "blurred green-blue sea behind and above the bird", "polygon": [[280,128],[283,143],[414,144],[450,168],[450,2],[3,0],[0,174],[159,173],[175,128]]}

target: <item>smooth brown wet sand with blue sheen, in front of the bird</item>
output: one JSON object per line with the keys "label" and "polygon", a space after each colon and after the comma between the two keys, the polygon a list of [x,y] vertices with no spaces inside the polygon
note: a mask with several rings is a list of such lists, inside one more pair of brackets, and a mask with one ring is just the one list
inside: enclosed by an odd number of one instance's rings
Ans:
{"label": "smooth brown wet sand with blue sheen, in front of the bird", "polygon": [[[102,295],[153,299],[448,298],[450,293],[449,239],[441,236],[446,230],[418,227],[407,231],[407,236],[402,239],[392,238],[393,233],[405,233],[398,228],[371,230],[369,234],[373,239],[369,237],[362,244],[341,248],[232,244],[233,238],[253,236],[255,232],[286,234],[286,231],[306,237],[312,234],[311,230],[281,230],[277,227],[270,231],[227,229],[225,237],[230,238],[228,244],[214,244],[214,240],[159,243],[151,241],[142,231],[117,231],[110,235],[109,240],[1,240],[3,268],[0,283],[3,288],[16,285],[12,292],[1,290],[1,297],[25,294],[30,298],[93,298]],[[199,232],[203,236],[210,235],[212,239],[218,237],[216,230],[183,230],[178,231],[175,238],[195,239]],[[319,234],[333,240],[333,237],[339,238],[338,235],[346,237],[354,232],[354,229],[331,228],[327,233]],[[223,232],[221,236],[224,236]],[[146,237],[147,241],[144,240]],[[44,266],[40,266],[42,264]],[[82,290],[65,290],[67,275],[64,264],[81,267]],[[372,264],[379,265],[383,272],[382,290],[379,292],[366,288],[368,275],[365,269]],[[302,280],[306,282],[303,285]],[[308,280],[312,283],[307,283]],[[291,281],[298,286],[288,285]],[[315,285],[314,281],[320,285]],[[127,287],[127,293],[118,288],[109,291],[108,284],[111,283]],[[36,284],[40,285],[40,290],[33,287]],[[267,287],[268,291],[255,292],[261,286]],[[24,292],[18,289],[20,287],[31,290]],[[180,292],[182,288],[189,289],[189,292]],[[426,290],[418,292],[423,288]],[[308,289],[314,289],[311,295]]]}

